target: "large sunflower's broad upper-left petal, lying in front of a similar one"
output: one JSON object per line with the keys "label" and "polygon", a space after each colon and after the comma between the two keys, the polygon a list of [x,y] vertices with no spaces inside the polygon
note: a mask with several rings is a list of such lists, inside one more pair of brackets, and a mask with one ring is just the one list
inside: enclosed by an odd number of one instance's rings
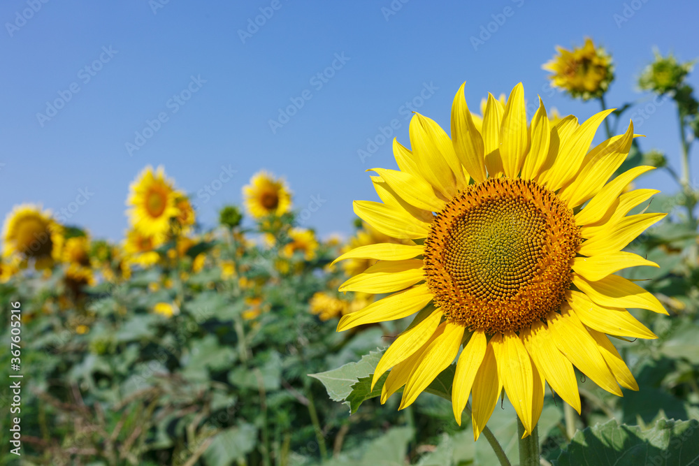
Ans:
{"label": "large sunflower's broad upper-left petal, lying in front of a similar one", "polygon": [[466,180],[447,133],[419,113],[410,120],[408,131],[412,154],[424,179],[447,198],[463,189]]}

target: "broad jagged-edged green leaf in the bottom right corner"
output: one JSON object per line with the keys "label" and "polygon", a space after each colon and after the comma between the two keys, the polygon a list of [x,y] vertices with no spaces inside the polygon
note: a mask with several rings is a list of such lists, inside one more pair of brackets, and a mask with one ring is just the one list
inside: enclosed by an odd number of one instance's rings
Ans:
{"label": "broad jagged-edged green leaf in the bottom right corner", "polygon": [[612,420],[578,431],[556,466],[699,465],[699,421],[660,419],[641,430]]}

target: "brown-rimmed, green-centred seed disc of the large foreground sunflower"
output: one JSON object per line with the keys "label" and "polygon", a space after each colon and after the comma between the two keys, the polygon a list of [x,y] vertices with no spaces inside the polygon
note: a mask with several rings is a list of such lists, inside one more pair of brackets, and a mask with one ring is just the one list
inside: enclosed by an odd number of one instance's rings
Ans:
{"label": "brown-rimmed, green-centred seed disc of the large foreground sunflower", "polygon": [[551,191],[487,180],[433,221],[427,284],[448,320],[487,333],[517,331],[559,309],[580,240],[572,212]]}

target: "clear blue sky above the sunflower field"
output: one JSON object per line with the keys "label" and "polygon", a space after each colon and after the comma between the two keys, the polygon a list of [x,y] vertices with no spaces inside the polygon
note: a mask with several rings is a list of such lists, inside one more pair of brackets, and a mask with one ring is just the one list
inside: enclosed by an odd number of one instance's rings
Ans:
{"label": "clear blue sky above the sunflower field", "polygon": [[[415,99],[419,112],[447,131],[464,81],[474,109],[487,92],[509,93],[522,81],[528,101],[541,94],[547,108],[584,119],[598,103],[546,87],[541,65],[555,45],[568,48],[591,36],[610,50],[617,73],[607,94],[612,106],[649,99],[634,89],[654,46],[682,60],[699,57],[694,1],[394,0],[394,8],[401,6],[394,15],[387,13],[390,0],[42,1],[0,5],[0,213],[22,202],[67,209],[87,188],[89,200],[68,223],[113,240],[127,227],[129,183],[147,164],[165,166],[192,195],[205,226],[222,205],[240,203],[241,187],[266,168],[286,177],[296,207],[311,196],[324,201],[306,226],[323,236],[349,233],[352,200],[375,198],[364,170],[395,167],[390,143],[365,161],[357,151],[393,119],[395,136],[409,145],[401,107],[425,84],[432,89],[423,92],[429,99]],[[32,5],[36,13],[27,10]],[[510,17],[500,15],[506,7]],[[625,8],[628,21],[619,23]],[[17,18],[23,11],[26,21]],[[271,17],[258,18],[264,24],[247,32],[249,20],[263,13]],[[475,50],[470,38],[493,15],[505,21],[491,24],[495,32]],[[241,38],[240,31],[249,35]],[[331,78],[314,78],[333,64]],[[697,73],[690,81],[699,85]],[[59,92],[67,96],[71,86],[78,92],[47,115],[47,102],[62,99]],[[182,104],[173,99],[180,94]],[[269,120],[303,96],[310,99],[273,132]],[[146,131],[152,137],[129,154],[126,144],[143,143],[136,131],[161,112],[166,121],[152,123],[158,131]],[[644,148],[664,150],[679,168],[672,103],[659,106],[637,132],[647,136]],[[215,182],[222,166],[236,173]],[[203,195],[206,185],[214,196]],[[639,185],[675,190],[662,173]]]}

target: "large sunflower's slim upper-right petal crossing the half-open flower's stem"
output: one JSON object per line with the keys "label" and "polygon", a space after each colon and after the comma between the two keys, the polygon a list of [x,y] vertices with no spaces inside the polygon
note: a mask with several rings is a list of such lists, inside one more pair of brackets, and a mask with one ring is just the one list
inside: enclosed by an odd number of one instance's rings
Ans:
{"label": "large sunflower's slim upper-right petal crossing the half-open flower's stem", "polygon": [[592,143],[598,126],[614,109],[603,110],[586,120],[570,138],[561,139],[559,156],[554,162],[552,173],[549,175],[548,187],[556,191],[568,183],[570,177],[577,173],[582,160]]}

